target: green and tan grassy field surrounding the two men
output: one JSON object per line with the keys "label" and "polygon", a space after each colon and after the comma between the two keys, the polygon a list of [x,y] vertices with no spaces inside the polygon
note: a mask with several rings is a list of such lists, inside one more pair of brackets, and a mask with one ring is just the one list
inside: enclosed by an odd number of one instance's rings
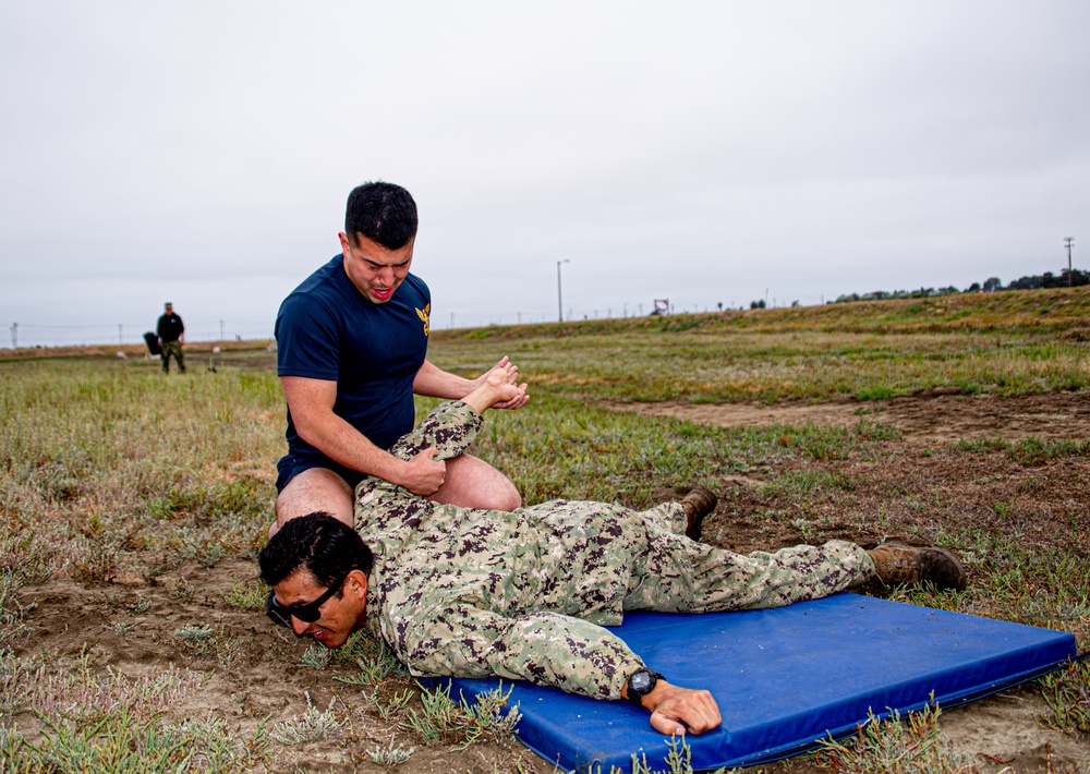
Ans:
{"label": "green and tan grassy field surrounding the two men", "polygon": [[[531,404],[491,416],[476,453],[508,472],[526,503],[565,496],[643,507],[664,488],[744,479],[755,483],[724,497],[722,519],[780,541],[893,529],[937,541],[967,557],[969,590],[898,591],[896,598],[1073,631],[1086,651],[1086,439],[1015,440],[997,432],[916,448],[895,428],[869,422],[865,407],[935,388],[1006,399],[1081,392],[1090,386],[1088,341],[1090,292],[1075,289],[433,331],[429,356],[467,375],[504,354],[521,366]],[[122,770],[111,766],[129,760],[125,751],[145,766],[131,771],[314,770],[305,764],[308,742],[336,729],[343,745],[379,722],[396,729],[395,739],[388,749],[361,747],[366,754],[352,759],[361,771],[379,771],[410,749],[420,760],[428,749],[477,743],[479,736],[501,743],[502,724],[487,708],[469,709],[467,719],[467,708],[421,693],[373,643],[356,643],[339,660],[302,656],[370,691],[365,711],[338,714],[334,704],[311,705],[307,694],[306,711],[289,719],[229,727],[234,718],[214,708],[193,718],[199,723],[179,724],[180,706],[192,714],[193,700],[184,699],[191,684],[217,664],[241,668],[246,638],[267,636],[256,612],[263,590],[252,580],[223,588],[217,604],[252,616],[256,633],[209,632],[194,622],[175,632],[169,657],[140,674],[96,673],[76,645],[41,646],[27,602],[35,589],[153,589],[182,567],[252,563],[283,451],[283,401],[265,343],[220,352],[191,346],[190,373],[167,377],[135,348],[124,360],[117,348],[0,355],[0,771]],[[725,430],[609,408],[844,399],[860,401],[861,410],[843,426]],[[419,410],[432,403],[420,400]],[[883,475],[892,459],[931,477]],[[940,464],[950,477],[973,470],[1014,482],[1010,494],[993,488],[991,499],[970,503],[965,489],[936,483],[945,475],[935,472]],[[730,544],[744,547],[746,540],[736,535]],[[90,646],[106,626],[80,637]],[[1053,708],[1041,723],[1090,734],[1086,668],[1034,690]],[[909,730],[937,735],[927,721]],[[879,759],[865,758],[884,754],[881,747],[863,740],[856,751],[833,750],[804,764],[816,769],[797,771],[882,771]],[[547,771],[521,757],[497,760]],[[479,771],[471,765],[467,759],[464,770]],[[932,770],[946,771],[888,771]]]}

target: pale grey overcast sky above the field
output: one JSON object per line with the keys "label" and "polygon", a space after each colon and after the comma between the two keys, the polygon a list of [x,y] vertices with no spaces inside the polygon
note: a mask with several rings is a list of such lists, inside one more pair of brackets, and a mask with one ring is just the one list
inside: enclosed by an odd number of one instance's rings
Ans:
{"label": "pale grey overcast sky above the field", "polygon": [[[0,4],[0,346],[269,336],[344,199],[433,326],[1090,265],[1090,3]],[[119,330],[120,326],[120,330]]]}

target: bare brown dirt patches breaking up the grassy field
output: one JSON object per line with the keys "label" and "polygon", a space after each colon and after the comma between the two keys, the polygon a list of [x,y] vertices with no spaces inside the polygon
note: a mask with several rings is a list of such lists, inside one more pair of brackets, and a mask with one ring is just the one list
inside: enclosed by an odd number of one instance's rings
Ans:
{"label": "bare brown dirt patches breaking up the grassy field", "polygon": [[[860,419],[860,406],[851,402],[617,408],[720,426],[803,422],[855,425]],[[1090,396],[1002,400],[929,392],[884,401],[870,409],[868,420],[893,425],[905,437],[887,442],[882,459],[851,457],[822,463],[823,469],[855,482],[849,494],[829,499],[818,496],[800,505],[786,498],[770,500],[762,489],[766,482],[758,477],[724,477],[717,482],[720,499],[705,522],[705,539],[741,552],[799,543],[807,535],[798,527],[798,509],[799,516],[804,513],[809,523],[816,525],[818,539],[847,537],[865,544],[886,534],[928,537],[950,520],[960,520],[961,524],[970,520],[981,527],[1019,532],[1025,540],[1042,545],[1054,543],[1059,532],[1074,533],[1067,540],[1082,542],[1090,549],[1086,545],[1090,507],[1085,487],[1090,463],[1083,458],[1027,468],[998,452],[955,453],[947,444],[959,437],[1088,438]],[[665,498],[681,493],[658,494]],[[921,503],[927,507],[920,507]],[[994,507],[997,503],[1010,507],[1001,516]],[[754,518],[754,513],[770,510],[784,512],[787,518]],[[884,518],[874,519],[877,512],[883,512]],[[1071,530],[1073,523],[1078,529]],[[974,557],[970,565],[979,567],[981,563],[986,563],[986,557]],[[272,769],[387,771],[373,763],[365,751],[388,747],[395,736],[393,725],[368,709],[367,697],[359,686],[336,679],[358,674],[356,667],[338,662],[324,669],[304,666],[301,660],[307,643],[274,627],[263,614],[225,601],[223,593],[231,589],[232,581],[250,581],[256,576],[254,563],[225,560],[211,568],[185,566],[152,583],[86,588],[71,579],[55,579],[26,588],[22,598],[32,607],[27,621],[34,633],[20,655],[70,658],[87,648],[95,667],[111,667],[129,675],[161,670],[169,664],[195,670],[203,676],[201,688],[186,705],[169,716],[201,717],[210,713],[230,718],[231,727],[242,730],[255,728],[264,718],[276,723],[298,717],[307,709],[307,694],[318,710],[328,708],[336,698],[335,706],[340,711],[363,713],[365,719],[353,723],[350,733],[283,748]],[[131,626],[119,626],[122,624]],[[230,648],[198,652],[175,633],[191,625],[213,626],[222,632]],[[399,686],[390,690],[396,688]],[[1073,771],[1076,764],[1090,771],[1090,739],[1040,729],[1034,715],[1044,711],[1043,701],[1033,690],[1015,689],[944,712],[942,727],[959,750],[974,757],[980,772],[1049,772],[1063,771],[1064,766]],[[34,725],[28,715],[15,721],[21,728]],[[553,771],[518,745],[476,743],[465,751],[451,752],[447,745],[428,746],[405,731],[397,731],[397,740],[416,748],[410,761],[397,767],[404,774]],[[808,757],[761,770],[777,774],[820,771]]]}

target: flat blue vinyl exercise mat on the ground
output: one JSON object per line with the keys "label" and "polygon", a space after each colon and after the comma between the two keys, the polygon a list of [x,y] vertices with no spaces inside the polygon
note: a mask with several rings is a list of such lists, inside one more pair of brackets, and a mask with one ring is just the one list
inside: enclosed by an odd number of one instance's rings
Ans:
{"label": "flat blue vinyl exercise mat on the ground", "polygon": [[[852,733],[872,711],[920,710],[980,699],[1077,656],[1075,637],[1021,624],[837,594],[744,613],[625,616],[614,631],[674,685],[707,688],[723,713],[714,731],[687,737],[697,771],[765,763]],[[497,679],[451,679],[451,696],[495,690]],[[646,757],[668,770],[669,737],[627,702],[595,701],[528,682],[511,688],[519,738],[566,771],[631,771]]]}

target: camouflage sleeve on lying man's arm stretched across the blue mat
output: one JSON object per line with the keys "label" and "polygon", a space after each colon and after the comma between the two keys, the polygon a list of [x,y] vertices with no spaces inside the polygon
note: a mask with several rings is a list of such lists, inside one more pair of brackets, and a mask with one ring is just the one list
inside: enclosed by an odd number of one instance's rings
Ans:
{"label": "camouflage sleeve on lying man's arm stretched across the blue mat", "polygon": [[497,676],[616,701],[643,666],[607,629],[558,613],[508,617],[461,603],[408,618],[392,644],[414,675]]}

